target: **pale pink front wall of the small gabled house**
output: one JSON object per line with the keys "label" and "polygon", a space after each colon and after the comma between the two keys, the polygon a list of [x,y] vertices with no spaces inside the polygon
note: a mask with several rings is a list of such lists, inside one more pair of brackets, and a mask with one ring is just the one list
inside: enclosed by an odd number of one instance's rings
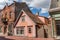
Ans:
{"label": "pale pink front wall of the small gabled house", "polygon": [[[25,34],[24,34],[24,36],[26,36],[26,37],[35,37],[36,36],[35,23],[31,20],[31,18],[24,11],[23,11],[22,16],[23,15],[25,15],[25,21],[22,22],[22,19],[20,18],[17,25],[16,25],[16,27],[25,26],[25,31],[24,31]],[[33,26],[32,27],[32,33],[29,34],[27,26],[31,26],[31,25]],[[16,35],[16,28],[14,29],[14,31],[15,31],[15,35]]]}

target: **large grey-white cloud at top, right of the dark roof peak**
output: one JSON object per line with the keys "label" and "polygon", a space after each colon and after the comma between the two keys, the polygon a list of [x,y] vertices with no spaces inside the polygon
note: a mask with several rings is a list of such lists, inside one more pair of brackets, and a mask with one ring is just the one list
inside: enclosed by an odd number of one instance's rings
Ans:
{"label": "large grey-white cloud at top, right of the dark roof peak", "polygon": [[22,0],[22,2],[26,2],[27,4],[30,4],[29,6],[33,6],[36,8],[49,8],[50,0]]}

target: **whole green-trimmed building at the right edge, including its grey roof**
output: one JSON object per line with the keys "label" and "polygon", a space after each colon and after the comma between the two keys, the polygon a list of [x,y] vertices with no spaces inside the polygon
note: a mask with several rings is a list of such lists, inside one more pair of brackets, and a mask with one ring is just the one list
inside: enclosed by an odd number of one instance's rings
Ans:
{"label": "whole green-trimmed building at the right edge, including its grey roof", "polygon": [[[53,0],[52,0],[53,1]],[[56,39],[60,39],[60,0],[54,0],[55,4],[51,4],[51,7],[49,10],[51,15],[51,27],[52,27],[52,37]]]}

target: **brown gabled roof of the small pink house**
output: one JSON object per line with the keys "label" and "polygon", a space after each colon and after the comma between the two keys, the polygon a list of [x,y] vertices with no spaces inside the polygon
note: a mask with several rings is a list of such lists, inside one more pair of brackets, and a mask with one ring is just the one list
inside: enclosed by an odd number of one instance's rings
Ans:
{"label": "brown gabled roof of the small pink house", "polygon": [[[26,9],[23,9],[23,11],[32,19],[32,21],[34,21],[36,24],[43,24],[43,22],[34,14],[32,14],[30,12],[30,10],[26,10]],[[20,14],[18,16],[18,18],[16,19],[16,22],[14,24],[14,26],[18,23],[20,17],[22,15],[22,11],[20,11]]]}

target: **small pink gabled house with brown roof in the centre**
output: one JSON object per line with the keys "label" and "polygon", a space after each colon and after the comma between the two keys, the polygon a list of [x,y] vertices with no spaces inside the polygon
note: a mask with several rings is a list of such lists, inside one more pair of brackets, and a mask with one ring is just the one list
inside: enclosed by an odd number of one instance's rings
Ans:
{"label": "small pink gabled house with brown roof in the centre", "polygon": [[43,27],[47,24],[48,21],[45,17],[34,15],[22,9],[15,22],[14,33],[23,37],[44,37]]}

